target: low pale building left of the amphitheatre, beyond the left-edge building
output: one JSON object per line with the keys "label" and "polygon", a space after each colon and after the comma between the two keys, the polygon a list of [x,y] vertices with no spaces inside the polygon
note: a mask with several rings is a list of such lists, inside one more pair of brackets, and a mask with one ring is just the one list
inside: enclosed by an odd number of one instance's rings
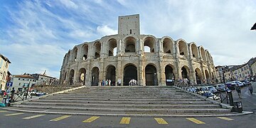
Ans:
{"label": "low pale building left of the amphitheatre, beyond the left-edge building", "polygon": [[31,85],[35,85],[37,80],[31,75],[12,75],[11,82],[13,82],[12,87],[15,90],[22,90],[24,87],[31,87]]}

